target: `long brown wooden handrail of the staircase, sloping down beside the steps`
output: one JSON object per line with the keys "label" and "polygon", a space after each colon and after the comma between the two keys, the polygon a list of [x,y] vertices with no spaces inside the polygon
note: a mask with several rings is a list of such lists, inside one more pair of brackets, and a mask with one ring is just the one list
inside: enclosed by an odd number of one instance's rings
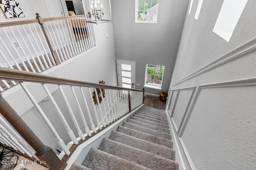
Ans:
{"label": "long brown wooden handrail of the staircase, sloping down beside the steps", "polygon": [[22,70],[15,70],[10,68],[3,68],[3,67],[0,67],[0,79],[14,80],[19,82],[36,82],[36,83],[46,83],[46,84],[81,86],[81,87],[92,87],[92,88],[107,88],[107,89],[115,89],[115,90],[131,90],[131,91],[143,92],[142,90],[123,88],[118,86],[110,86],[110,85],[105,85],[100,83],[90,83],[90,82],[84,82],[80,80],[72,80],[68,78],[49,76],[46,74],[26,72]]}

